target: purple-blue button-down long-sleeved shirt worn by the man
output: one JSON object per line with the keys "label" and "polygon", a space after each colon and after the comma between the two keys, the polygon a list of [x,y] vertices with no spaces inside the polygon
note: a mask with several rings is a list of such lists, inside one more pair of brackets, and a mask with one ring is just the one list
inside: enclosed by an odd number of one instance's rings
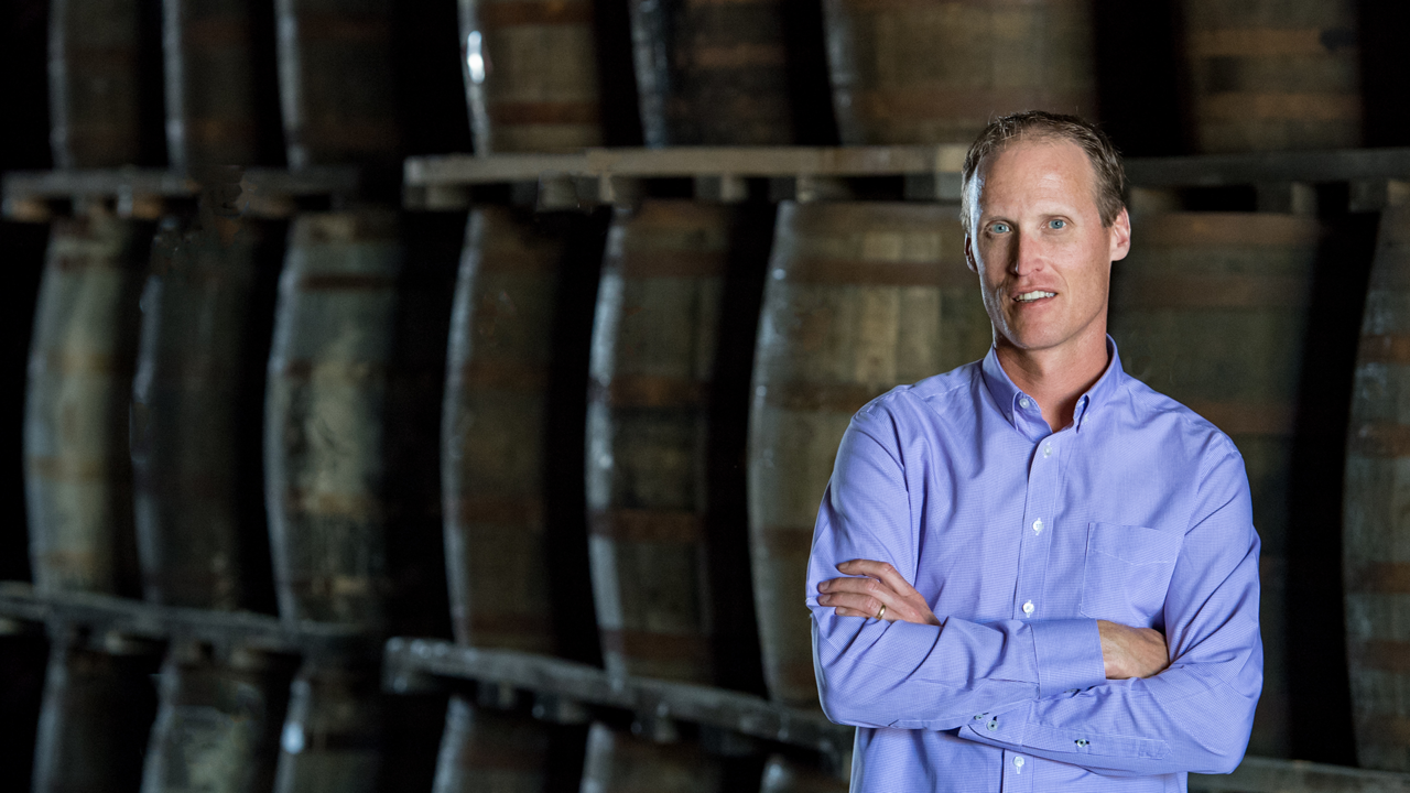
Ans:
{"label": "purple-blue button-down long-sleeved shirt worn by the man", "polygon": [[[1244,460],[1111,364],[1052,432],[994,350],[863,408],[808,563],[828,717],[852,790],[1186,790],[1244,756],[1263,682]],[[940,626],[838,617],[818,584],[890,562]],[[1107,680],[1097,619],[1170,667]]]}

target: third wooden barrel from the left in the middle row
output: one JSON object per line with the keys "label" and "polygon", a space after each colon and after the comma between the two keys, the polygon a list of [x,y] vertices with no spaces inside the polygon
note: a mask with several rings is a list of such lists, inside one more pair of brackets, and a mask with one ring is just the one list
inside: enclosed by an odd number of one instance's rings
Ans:
{"label": "third wooden barrel from the left in the middle row", "polygon": [[384,419],[400,267],[393,212],[293,222],[265,395],[265,501],[289,621],[385,624]]}

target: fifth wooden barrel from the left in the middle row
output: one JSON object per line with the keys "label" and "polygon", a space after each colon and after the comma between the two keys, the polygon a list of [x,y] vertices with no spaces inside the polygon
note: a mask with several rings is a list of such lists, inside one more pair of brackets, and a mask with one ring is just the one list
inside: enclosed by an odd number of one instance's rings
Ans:
{"label": "fifth wooden barrel from the left in the middle row", "polygon": [[723,206],[619,209],[592,329],[588,515],[608,670],[711,680],[708,405],[730,238]]}

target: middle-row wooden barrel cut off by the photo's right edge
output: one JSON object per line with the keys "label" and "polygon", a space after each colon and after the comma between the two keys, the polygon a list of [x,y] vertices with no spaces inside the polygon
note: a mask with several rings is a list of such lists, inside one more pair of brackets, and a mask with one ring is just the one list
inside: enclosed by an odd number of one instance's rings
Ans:
{"label": "middle-row wooden barrel cut off by the photo's right edge", "polygon": [[1380,217],[1347,440],[1347,659],[1362,768],[1410,772],[1410,529],[1399,471],[1410,385],[1410,209]]}

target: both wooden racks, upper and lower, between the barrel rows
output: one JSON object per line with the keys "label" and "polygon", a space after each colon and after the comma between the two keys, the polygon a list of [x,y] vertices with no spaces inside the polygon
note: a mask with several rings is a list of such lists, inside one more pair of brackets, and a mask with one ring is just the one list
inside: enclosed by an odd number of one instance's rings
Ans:
{"label": "both wooden racks, upper and lower, between the barrel rows", "polygon": [[[581,209],[629,203],[653,179],[688,179],[701,200],[735,202],[749,195],[749,181],[767,181],[771,199],[819,200],[852,195],[852,181],[900,178],[912,200],[957,202],[964,147],[761,147],[587,150],[571,155],[440,155],[405,162],[407,209],[461,209],[472,189],[509,185],[516,199],[540,209]],[[1410,148],[1313,152],[1259,152],[1127,161],[1131,200],[1169,206],[1187,188],[1253,188],[1259,209],[1314,210],[1313,185],[1347,185],[1352,212],[1379,210],[1410,198]],[[300,200],[338,206],[358,198],[360,175],[348,168],[299,172],[244,171],[240,205],[252,216],[298,212]],[[161,169],[17,172],[4,178],[4,216],[47,222],[83,202],[99,202],[118,214],[155,217],[172,202],[190,200],[200,186]],[[458,646],[423,638],[381,636],[355,626],[298,624],[248,612],[214,612],[151,605],[107,595],[38,594],[28,584],[0,581],[0,632],[48,624],[111,632],[147,641],[190,639],[268,652],[376,658],[392,693],[444,689],[470,680],[498,691],[532,691],[536,714],[556,721],[587,718],[587,706],[629,711],[639,722],[684,721],[725,734],[787,744],[819,752],[832,763],[850,751],[850,727],[818,711],[791,708],[760,697],[664,680],[613,676],[564,659]],[[1230,776],[1190,776],[1191,790],[1273,793],[1327,790],[1410,793],[1410,773],[1246,758]]]}

